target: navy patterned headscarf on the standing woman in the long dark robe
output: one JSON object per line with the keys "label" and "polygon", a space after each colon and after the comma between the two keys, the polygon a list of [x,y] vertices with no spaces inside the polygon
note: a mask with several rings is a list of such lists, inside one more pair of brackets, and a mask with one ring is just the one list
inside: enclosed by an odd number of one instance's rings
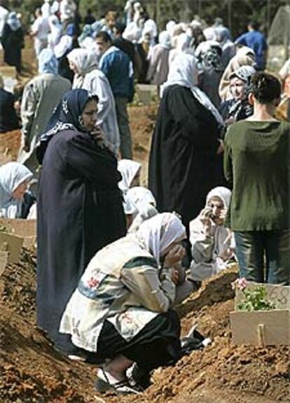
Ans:
{"label": "navy patterned headscarf on the standing woman in the long dark robe", "polygon": [[95,99],[99,101],[97,95],[87,90],[77,89],[71,90],[64,94],[60,104],[53,111],[45,132],[41,135],[41,139],[36,146],[36,155],[41,163],[46,152],[49,141],[64,130],[75,130],[77,132],[86,132],[83,127],[81,115],[85,105]]}

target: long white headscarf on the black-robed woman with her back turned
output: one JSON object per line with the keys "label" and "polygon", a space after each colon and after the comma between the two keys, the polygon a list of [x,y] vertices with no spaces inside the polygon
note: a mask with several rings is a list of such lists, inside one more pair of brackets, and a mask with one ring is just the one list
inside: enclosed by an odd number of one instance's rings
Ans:
{"label": "long white headscarf on the black-robed woman with her back turned", "polygon": [[219,124],[223,125],[223,118],[221,118],[219,111],[214,104],[212,104],[212,101],[210,101],[205,92],[198,88],[198,68],[196,66],[195,57],[186,55],[186,53],[180,53],[179,56],[173,60],[172,64],[170,64],[167,81],[162,86],[162,92],[170,85],[181,85],[190,88],[193,97],[214,115],[214,118]]}

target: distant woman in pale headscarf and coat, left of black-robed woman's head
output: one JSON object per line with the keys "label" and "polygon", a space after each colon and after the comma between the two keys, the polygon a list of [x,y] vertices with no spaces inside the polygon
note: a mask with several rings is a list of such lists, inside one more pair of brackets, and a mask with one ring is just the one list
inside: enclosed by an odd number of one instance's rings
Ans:
{"label": "distant woman in pale headscarf and coat, left of black-robed woman's head", "polygon": [[149,69],[147,80],[151,84],[162,85],[167,80],[169,71],[169,54],[171,49],[171,38],[167,31],[159,34],[159,43],[149,51]]}

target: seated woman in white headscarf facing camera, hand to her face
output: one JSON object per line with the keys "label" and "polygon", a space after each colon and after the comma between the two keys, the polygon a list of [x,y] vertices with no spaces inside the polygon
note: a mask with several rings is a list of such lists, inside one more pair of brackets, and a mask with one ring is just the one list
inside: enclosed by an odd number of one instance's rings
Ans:
{"label": "seated woman in white headscarf facing camera, hand to her face", "polygon": [[193,281],[203,281],[226,269],[233,254],[233,236],[224,226],[231,192],[219,186],[207,195],[205,208],[189,224],[191,275]]}

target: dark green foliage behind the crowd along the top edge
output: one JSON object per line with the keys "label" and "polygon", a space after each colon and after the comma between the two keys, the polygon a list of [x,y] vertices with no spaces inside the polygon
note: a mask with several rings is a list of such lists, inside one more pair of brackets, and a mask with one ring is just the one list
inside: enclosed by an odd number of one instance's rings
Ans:
{"label": "dark green foliage behind the crowd along the top edge", "polygon": [[[208,24],[215,17],[222,17],[233,36],[245,31],[249,20],[257,20],[267,33],[279,6],[290,4],[290,0],[139,0],[146,6],[151,17],[158,21],[160,29],[169,20],[190,22],[195,14],[200,15]],[[6,6],[20,10],[23,22],[29,24],[31,15],[43,0],[4,0]],[[95,17],[100,18],[108,10],[117,10],[123,17],[125,0],[79,0],[81,14],[85,15],[88,8],[92,9]]]}

